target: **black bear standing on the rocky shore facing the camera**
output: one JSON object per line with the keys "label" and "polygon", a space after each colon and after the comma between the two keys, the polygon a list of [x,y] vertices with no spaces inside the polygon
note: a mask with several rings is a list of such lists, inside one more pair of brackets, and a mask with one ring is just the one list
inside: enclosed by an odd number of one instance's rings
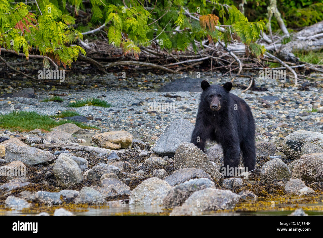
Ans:
{"label": "black bear standing on the rocky shore facing the camera", "polygon": [[236,170],[242,152],[246,171],[255,169],[255,120],[251,109],[243,99],[230,93],[231,82],[210,86],[203,80],[201,87],[191,143],[205,153],[205,142],[215,141],[222,145],[224,168]]}

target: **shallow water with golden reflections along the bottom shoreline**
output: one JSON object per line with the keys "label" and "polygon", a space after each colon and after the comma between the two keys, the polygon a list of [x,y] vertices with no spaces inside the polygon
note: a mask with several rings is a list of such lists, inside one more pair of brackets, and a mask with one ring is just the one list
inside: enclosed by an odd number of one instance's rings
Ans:
{"label": "shallow water with golden reflections along the bottom shoreline", "polygon": [[[308,198],[311,201],[308,202]],[[305,201],[307,200],[307,201]],[[273,201],[275,207],[272,207]],[[56,208],[56,207],[55,207]],[[57,208],[59,208],[57,206]],[[238,203],[235,210],[203,213],[215,216],[287,216],[296,208],[303,208],[309,216],[323,215],[323,197],[285,197],[285,198],[257,198],[247,199]],[[248,210],[248,211],[244,211]],[[42,211],[39,208],[39,211]],[[251,211],[249,211],[251,210]],[[168,215],[170,211],[162,210],[158,206],[133,206],[122,201],[109,202],[104,207],[88,207],[80,210],[71,210],[76,216],[108,216],[108,215]],[[0,209],[0,216],[36,215],[39,212],[22,212]],[[50,213],[52,215],[53,213]]]}

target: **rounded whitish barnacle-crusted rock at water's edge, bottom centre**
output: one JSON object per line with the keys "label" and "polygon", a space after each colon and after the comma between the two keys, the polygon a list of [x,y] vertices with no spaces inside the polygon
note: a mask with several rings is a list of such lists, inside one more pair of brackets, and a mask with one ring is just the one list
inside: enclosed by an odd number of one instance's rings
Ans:
{"label": "rounded whitish barnacle-crusted rock at water's edge, bottom centre", "polygon": [[149,178],[131,191],[129,205],[162,205],[170,189],[171,186],[164,180]]}

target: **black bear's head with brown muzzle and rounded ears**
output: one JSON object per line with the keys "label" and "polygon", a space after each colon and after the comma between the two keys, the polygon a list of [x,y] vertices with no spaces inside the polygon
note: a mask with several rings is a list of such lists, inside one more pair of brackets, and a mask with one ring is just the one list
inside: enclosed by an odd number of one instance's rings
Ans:
{"label": "black bear's head with brown muzzle and rounded ears", "polygon": [[232,83],[227,82],[223,86],[221,85],[210,85],[206,80],[201,82],[201,87],[203,89],[201,95],[201,102],[206,103],[210,106],[213,111],[219,111],[229,102],[229,91],[232,88]]}

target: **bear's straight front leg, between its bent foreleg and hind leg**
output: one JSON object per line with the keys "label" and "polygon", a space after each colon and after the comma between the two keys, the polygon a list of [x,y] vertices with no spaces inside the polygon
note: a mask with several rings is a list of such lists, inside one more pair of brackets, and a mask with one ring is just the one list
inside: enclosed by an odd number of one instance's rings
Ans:
{"label": "bear's straight front leg, between its bent foreleg and hind leg", "polygon": [[[240,146],[239,143],[225,142],[222,144],[224,155],[224,166],[221,169],[221,173],[224,171],[225,177],[233,176],[232,172],[236,171],[240,161]],[[223,170],[224,169],[224,170]],[[235,174],[235,172],[233,172]]]}

